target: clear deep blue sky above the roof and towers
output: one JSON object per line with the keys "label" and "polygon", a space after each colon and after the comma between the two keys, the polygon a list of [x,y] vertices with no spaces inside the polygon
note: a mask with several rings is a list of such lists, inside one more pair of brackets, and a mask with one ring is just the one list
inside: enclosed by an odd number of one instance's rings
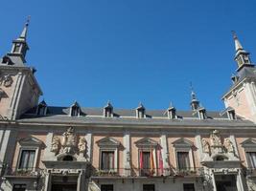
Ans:
{"label": "clear deep blue sky above the roof and towers", "polygon": [[0,54],[27,15],[27,61],[49,105],[188,110],[190,81],[207,110],[231,84],[231,31],[256,60],[256,1],[2,0]]}

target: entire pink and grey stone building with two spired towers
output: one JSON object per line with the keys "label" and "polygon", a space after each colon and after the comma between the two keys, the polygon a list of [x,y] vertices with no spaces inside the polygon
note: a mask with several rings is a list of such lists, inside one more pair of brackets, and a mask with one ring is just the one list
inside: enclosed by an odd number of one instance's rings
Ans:
{"label": "entire pink and grey stone building with two spired towers", "polygon": [[234,33],[225,109],[84,108],[38,103],[26,64],[28,23],[0,59],[0,185],[4,191],[255,191],[256,69]]}

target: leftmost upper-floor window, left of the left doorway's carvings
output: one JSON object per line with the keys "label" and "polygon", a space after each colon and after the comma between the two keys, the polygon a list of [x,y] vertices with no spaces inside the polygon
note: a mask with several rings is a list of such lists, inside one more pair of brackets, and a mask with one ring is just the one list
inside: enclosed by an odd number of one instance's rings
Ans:
{"label": "leftmost upper-floor window, left of the left doorway's carvings", "polygon": [[19,169],[33,170],[35,162],[35,150],[22,150],[19,159]]}

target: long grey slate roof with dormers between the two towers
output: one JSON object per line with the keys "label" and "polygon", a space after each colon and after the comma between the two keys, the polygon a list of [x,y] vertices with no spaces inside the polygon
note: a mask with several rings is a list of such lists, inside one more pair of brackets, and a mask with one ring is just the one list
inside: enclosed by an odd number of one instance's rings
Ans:
{"label": "long grey slate roof with dormers between the two towers", "polygon": [[195,111],[177,111],[177,118],[170,119],[166,110],[147,110],[146,117],[137,118],[136,110],[114,109],[114,117],[104,117],[104,108],[81,108],[80,117],[70,117],[69,107],[47,107],[46,116],[37,116],[36,108],[24,114],[19,121],[42,123],[69,123],[69,124],[124,124],[124,125],[191,125],[191,126],[251,126],[256,125],[241,117],[236,120],[228,119],[227,115],[220,112],[207,112],[206,119],[198,119]]}

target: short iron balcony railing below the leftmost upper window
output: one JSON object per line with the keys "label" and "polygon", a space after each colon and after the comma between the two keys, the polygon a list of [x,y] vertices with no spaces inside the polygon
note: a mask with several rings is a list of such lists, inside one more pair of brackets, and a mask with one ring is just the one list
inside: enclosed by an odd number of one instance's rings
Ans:
{"label": "short iron balcony railing below the leftmost upper window", "polygon": [[38,177],[42,169],[40,168],[16,168],[7,167],[4,172],[5,177]]}

